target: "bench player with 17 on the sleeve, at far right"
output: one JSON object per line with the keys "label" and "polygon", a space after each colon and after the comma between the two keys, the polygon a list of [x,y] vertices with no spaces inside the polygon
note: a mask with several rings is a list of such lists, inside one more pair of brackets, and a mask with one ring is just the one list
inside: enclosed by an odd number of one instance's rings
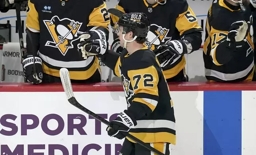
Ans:
{"label": "bench player with 17 on the sleeve, at far right", "polygon": [[252,81],[252,10],[240,4],[242,0],[214,0],[209,8],[203,54],[209,81]]}

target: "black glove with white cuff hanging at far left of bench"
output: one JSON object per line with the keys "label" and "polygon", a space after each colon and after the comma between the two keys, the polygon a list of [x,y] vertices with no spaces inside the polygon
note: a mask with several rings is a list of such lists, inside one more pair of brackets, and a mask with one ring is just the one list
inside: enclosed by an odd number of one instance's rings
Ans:
{"label": "black glove with white cuff hanging at far left of bench", "polygon": [[42,66],[41,58],[37,56],[35,57],[35,66],[34,66],[34,56],[25,55],[22,64],[24,68],[24,77],[25,79],[27,79],[29,83],[38,84],[42,82],[43,66]]}

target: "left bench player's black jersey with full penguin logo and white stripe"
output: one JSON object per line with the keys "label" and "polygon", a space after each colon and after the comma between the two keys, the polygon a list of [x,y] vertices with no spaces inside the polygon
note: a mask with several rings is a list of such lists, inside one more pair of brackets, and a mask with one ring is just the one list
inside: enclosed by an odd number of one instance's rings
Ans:
{"label": "left bench player's black jersey with full penguin logo and white stripe", "polygon": [[97,57],[84,60],[77,50],[79,36],[99,26],[110,16],[103,0],[29,0],[26,27],[40,32],[39,56],[46,74],[59,77],[68,68],[71,79],[88,79],[99,68]]}

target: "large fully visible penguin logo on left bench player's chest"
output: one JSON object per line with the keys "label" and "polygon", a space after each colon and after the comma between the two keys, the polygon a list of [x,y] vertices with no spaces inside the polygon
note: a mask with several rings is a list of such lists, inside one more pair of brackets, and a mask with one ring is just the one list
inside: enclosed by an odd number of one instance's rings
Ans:
{"label": "large fully visible penguin logo on left bench player's chest", "polygon": [[82,34],[79,29],[83,23],[72,19],[60,19],[58,16],[53,16],[51,20],[43,20],[47,27],[52,40],[48,40],[45,46],[58,48],[62,55],[66,55],[68,49],[74,48],[72,42],[78,40],[78,34]]}

